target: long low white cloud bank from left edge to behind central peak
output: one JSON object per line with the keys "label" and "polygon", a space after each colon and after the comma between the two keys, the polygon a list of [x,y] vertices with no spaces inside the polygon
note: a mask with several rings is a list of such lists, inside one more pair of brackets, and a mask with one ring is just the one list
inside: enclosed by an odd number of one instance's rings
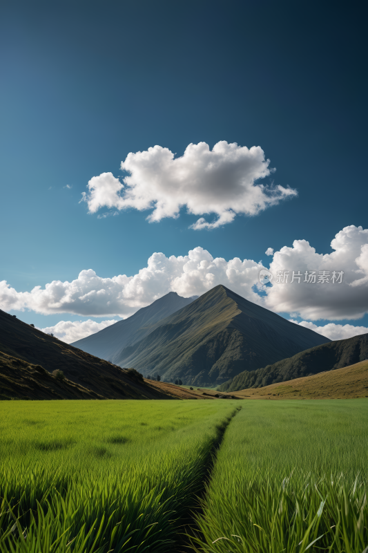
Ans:
{"label": "long low white cloud bank from left edge to behind central peak", "polygon": [[262,303],[256,290],[252,290],[261,269],[261,263],[248,259],[213,259],[202,247],[195,247],[186,256],[166,257],[155,253],[147,266],[131,277],[120,274],[104,279],[89,269],[81,271],[72,282],[52,281],[45,288],[36,286],[31,292],[17,292],[1,281],[0,308],[30,309],[43,315],[66,312],[85,317],[126,317],[168,292],[191,297],[217,284]]}

